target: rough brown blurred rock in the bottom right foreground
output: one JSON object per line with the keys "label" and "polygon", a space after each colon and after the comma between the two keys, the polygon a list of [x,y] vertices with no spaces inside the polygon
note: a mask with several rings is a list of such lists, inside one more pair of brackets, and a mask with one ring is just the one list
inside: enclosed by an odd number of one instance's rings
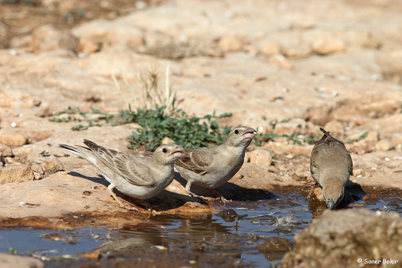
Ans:
{"label": "rough brown blurred rock in the bottom right foreground", "polygon": [[[296,236],[279,267],[365,267],[366,259],[381,260],[382,267],[398,267],[401,236],[402,218],[397,213],[327,210]],[[359,258],[363,261],[358,262]],[[397,262],[384,265],[383,259]]]}

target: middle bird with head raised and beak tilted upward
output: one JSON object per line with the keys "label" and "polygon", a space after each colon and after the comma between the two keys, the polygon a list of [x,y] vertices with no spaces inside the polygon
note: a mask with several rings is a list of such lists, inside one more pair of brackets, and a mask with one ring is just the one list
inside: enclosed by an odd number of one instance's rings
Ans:
{"label": "middle bird with head raised and beak tilted upward", "polygon": [[192,197],[205,199],[190,192],[191,184],[209,188],[224,203],[222,194],[214,190],[228,182],[244,162],[247,146],[256,136],[255,129],[237,127],[232,129],[224,144],[212,148],[189,148],[185,156],[175,163],[180,175],[187,180],[185,192]]}

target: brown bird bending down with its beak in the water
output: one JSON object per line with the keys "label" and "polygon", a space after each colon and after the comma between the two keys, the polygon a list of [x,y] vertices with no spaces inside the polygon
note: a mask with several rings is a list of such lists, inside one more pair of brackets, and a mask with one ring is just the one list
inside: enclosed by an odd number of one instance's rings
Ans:
{"label": "brown bird bending down with its beak in the water", "polygon": [[316,185],[320,185],[327,207],[332,210],[345,195],[345,186],[353,175],[350,152],[342,141],[335,139],[328,131],[320,128],[324,136],[315,144],[310,156],[310,171]]}

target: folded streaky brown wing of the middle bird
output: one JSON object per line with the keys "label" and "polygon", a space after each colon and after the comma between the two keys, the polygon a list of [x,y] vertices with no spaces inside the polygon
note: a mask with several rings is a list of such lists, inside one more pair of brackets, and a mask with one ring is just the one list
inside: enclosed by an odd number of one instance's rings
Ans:
{"label": "folded streaky brown wing of the middle bird", "polygon": [[176,165],[195,173],[205,174],[214,160],[215,151],[215,148],[186,149],[186,156],[177,160]]}

